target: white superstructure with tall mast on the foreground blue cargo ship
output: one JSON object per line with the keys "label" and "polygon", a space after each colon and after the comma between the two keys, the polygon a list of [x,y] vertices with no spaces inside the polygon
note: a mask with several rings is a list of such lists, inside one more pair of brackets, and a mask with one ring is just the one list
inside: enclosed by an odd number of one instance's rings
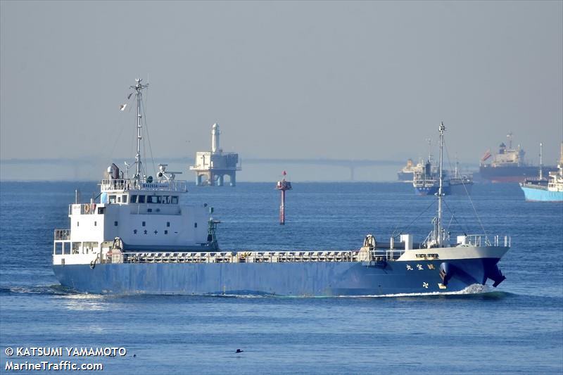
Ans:
{"label": "white superstructure with tall mast on the foreground blue cargo ship", "polygon": [[186,182],[159,165],[156,178],[141,164],[141,90],[137,80],[137,154],[132,178],[115,164],[101,180],[100,194],[89,203],[69,205],[70,229],[56,229],[53,264],[85,264],[111,257],[111,249],[127,251],[213,250],[206,204],[186,205]]}

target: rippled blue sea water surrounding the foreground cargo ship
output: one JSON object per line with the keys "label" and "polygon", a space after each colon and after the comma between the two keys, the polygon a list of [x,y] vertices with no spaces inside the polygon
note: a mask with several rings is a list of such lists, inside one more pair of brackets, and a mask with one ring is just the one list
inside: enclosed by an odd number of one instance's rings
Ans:
{"label": "rippled blue sea water surrounding the foreground cargo ship", "polygon": [[[293,186],[284,227],[273,184],[191,186],[189,201],[215,207],[228,250],[350,249],[368,233],[388,241],[393,231],[410,232],[421,241],[431,229],[433,198],[408,184]],[[475,185],[472,195],[486,232],[512,236],[498,288],[383,298],[68,291],[53,276],[51,251],[53,229],[69,227],[77,187],[84,201],[96,192],[94,183],[0,184],[0,372],[8,347],[115,346],[127,355],[70,360],[103,363],[107,374],[563,372],[563,205],[525,203],[516,184]],[[446,203],[453,235],[482,232],[466,197]]]}

